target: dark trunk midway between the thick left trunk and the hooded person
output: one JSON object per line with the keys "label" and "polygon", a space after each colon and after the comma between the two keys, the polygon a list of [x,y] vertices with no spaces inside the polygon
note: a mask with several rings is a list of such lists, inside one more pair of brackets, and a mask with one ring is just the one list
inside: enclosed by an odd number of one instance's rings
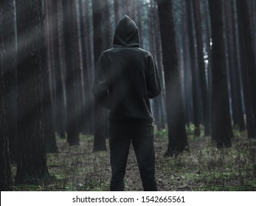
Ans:
{"label": "dark trunk midway between the thick left trunk and the hooded person", "polygon": [[[69,146],[79,145],[79,123],[80,96],[77,84],[79,68],[75,63],[75,34],[74,34],[74,3],[75,1],[63,0],[63,32],[66,60],[66,109],[67,109],[67,141]],[[78,102],[77,102],[78,101]]]}

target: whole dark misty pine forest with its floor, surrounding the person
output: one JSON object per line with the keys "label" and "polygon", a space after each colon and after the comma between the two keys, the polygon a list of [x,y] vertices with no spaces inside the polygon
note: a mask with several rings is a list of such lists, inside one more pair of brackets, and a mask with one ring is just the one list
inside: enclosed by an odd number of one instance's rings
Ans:
{"label": "whole dark misty pine forest with its floor, surrounding the person", "polygon": [[[256,191],[255,0],[1,0],[1,191],[109,191],[92,86],[124,15],[158,68],[159,191]],[[130,148],[125,191],[142,191]]]}

